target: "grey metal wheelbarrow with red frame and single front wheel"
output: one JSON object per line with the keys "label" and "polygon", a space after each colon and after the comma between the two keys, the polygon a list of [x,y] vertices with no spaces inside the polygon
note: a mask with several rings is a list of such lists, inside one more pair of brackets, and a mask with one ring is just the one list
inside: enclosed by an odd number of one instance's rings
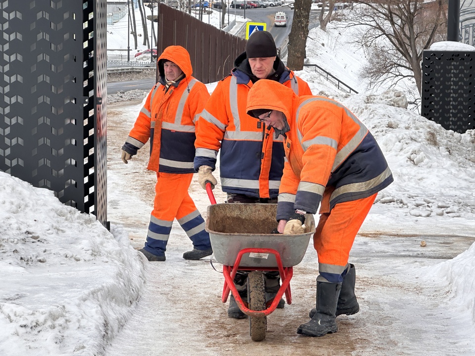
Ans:
{"label": "grey metal wheelbarrow with red frame and single front wheel", "polygon": [[[313,215],[307,214],[302,234],[274,234],[277,204],[216,204],[211,187],[207,188],[212,205],[208,206],[205,230],[216,261],[223,265],[222,302],[227,302],[231,292],[239,309],[248,315],[251,339],[262,341],[267,315],[276,310],[284,294],[287,304],[292,303],[289,283],[293,266],[302,261],[315,233]],[[238,270],[248,271],[246,301],[234,284]],[[264,272],[268,271],[279,271],[282,285],[275,298],[266,303]]]}

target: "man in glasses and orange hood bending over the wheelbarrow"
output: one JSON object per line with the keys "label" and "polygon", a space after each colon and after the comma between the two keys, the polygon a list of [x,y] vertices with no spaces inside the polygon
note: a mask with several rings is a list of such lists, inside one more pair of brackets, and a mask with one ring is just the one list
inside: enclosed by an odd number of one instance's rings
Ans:
{"label": "man in glasses and orange hood bending over the wheelbarrow", "polygon": [[283,137],[287,161],[277,204],[279,232],[303,233],[304,215],[316,214],[320,205],[313,237],[319,262],[316,308],[297,333],[336,332],[337,315],[359,311],[348,256],[378,191],[393,181],[391,171],[373,135],[332,99],[298,97],[263,80],[249,90],[247,112]]}

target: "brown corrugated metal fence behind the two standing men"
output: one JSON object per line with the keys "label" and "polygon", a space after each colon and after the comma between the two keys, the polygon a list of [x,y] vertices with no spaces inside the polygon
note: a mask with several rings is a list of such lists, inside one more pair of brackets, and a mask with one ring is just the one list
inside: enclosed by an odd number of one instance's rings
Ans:
{"label": "brown corrugated metal fence behind the two standing men", "polygon": [[217,82],[227,76],[234,67],[234,59],[245,50],[246,40],[188,13],[159,4],[158,14],[158,53],[169,45],[185,47],[190,53],[193,76],[203,83]]}

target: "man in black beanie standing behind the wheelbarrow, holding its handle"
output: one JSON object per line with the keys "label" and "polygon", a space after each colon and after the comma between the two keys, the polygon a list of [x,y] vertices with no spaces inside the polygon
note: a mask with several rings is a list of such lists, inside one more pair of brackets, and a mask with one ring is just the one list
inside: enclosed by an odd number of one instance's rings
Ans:
{"label": "man in black beanie standing behind the wheelbarrow, holding its handle", "polygon": [[[297,95],[311,95],[308,84],[285,67],[277,56],[272,35],[267,31],[251,34],[246,51],[235,60],[231,74],[218,83],[196,126],[194,169],[206,189],[218,183],[212,172],[221,149],[221,187],[228,203],[277,203],[284,169],[282,140],[272,127],[247,115],[247,93],[259,79],[270,79],[293,89]],[[271,233],[271,231],[269,231]],[[239,296],[247,301],[247,273],[238,271],[234,282]],[[266,301],[273,300],[280,287],[278,272],[266,274]],[[278,308],[284,308],[284,300]],[[235,296],[230,297],[228,316],[245,318]]]}

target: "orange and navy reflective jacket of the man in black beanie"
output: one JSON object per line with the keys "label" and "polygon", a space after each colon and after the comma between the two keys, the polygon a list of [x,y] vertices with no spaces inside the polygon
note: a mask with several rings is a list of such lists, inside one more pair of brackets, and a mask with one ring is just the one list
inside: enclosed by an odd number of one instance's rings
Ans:
{"label": "orange and navy reflective jacket of the man in black beanie", "polygon": [[[258,81],[259,82],[259,81]],[[279,84],[279,82],[281,84]],[[279,84],[297,95],[312,94],[307,83],[286,69]],[[199,119],[194,167],[215,168],[220,152],[223,191],[257,198],[277,198],[284,150],[282,137],[246,114],[249,76],[234,69],[218,83]]]}

